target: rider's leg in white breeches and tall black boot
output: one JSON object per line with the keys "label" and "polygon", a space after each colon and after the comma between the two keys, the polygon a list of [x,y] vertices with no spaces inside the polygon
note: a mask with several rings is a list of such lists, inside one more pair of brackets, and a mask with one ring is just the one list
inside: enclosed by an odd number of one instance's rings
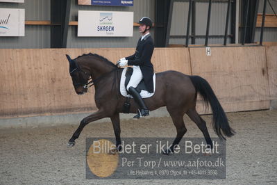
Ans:
{"label": "rider's leg in white breeches and tall black boot", "polygon": [[137,87],[137,85],[140,83],[141,80],[142,80],[142,72],[140,70],[140,67],[133,66],[133,74],[128,83],[127,89],[128,89],[128,92],[135,99],[135,102],[137,103],[137,105],[140,106],[140,110],[139,110],[140,112],[137,115],[135,115],[134,118],[140,118],[142,116],[149,115],[148,108],[145,106],[142,97],[140,97],[140,93],[138,93],[137,90],[135,90],[135,88]]}

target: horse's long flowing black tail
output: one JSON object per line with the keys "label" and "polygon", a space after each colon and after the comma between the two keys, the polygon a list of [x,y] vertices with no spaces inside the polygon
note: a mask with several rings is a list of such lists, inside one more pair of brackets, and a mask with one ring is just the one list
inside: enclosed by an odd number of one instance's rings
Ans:
{"label": "horse's long flowing black tail", "polygon": [[190,79],[196,88],[196,93],[203,97],[205,106],[210,103],[212,108],[212,126],[217,136],[224,139],[224,136],[233,136],[235,131],[230,127],[226,114],[208,81],[199,76],[190,76]]}

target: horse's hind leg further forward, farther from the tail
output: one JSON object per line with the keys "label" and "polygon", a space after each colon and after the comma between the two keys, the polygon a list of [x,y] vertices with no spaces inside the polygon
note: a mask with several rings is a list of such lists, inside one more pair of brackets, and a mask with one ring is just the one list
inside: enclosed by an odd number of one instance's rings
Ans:
{"label": "horse's hind leg further forward, farther from the tail", "polygon": [[180,140],[183,138],[185,133],[187,132],[187,128],[185,128],[185,123],[183,120],[183,116],[185,113],[182,113],[181,111],[171,111],[169,108],[167,108],[167,111],[169,112],[172,121],[174,123],[174,126],[177,130],[177,136],[172,143],[171,147],[165,154],[173,153],[174,152],[174,146],[178,145],[180,143]]}

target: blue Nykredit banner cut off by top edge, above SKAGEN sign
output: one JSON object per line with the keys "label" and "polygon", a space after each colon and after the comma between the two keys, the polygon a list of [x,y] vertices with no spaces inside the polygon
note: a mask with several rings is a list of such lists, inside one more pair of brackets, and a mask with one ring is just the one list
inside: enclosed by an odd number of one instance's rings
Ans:
{"label": "blue Nykredit banner cut off by top edge, above SKAGEN sign", "polygon": [[78,0],[79,5],[96,5],[96,6],[133,6],[133,0],[110,0],[110,1],[98,1],[98,0]]}

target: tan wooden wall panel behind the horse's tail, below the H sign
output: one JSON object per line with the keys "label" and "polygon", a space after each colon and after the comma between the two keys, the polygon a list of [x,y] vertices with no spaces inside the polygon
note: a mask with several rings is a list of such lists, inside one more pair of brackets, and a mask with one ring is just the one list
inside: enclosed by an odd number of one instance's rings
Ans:
{"label": "tan wooden wall panel behind the horse's tail, below the H sign", "polygon": [[190,54],[192,74],[210,82],[226,112],[269,108],[265,47],[212,47],[211,56],[201,47]]}

